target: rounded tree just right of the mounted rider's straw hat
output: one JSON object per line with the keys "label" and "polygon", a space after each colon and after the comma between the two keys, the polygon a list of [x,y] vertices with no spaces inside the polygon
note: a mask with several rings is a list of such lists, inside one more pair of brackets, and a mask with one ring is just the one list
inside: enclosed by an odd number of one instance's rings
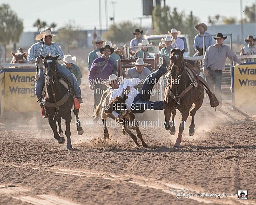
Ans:
{"label": "rounded tree just right of the mounted rider's straw hat", "polygon": [[78,41],[84,39],[79,26],[75,25],[74,20],[69,20],[67,24],[58,30],[57,42],[60,42],[63,46],[67,47],[67,53],[70,52],[71,47],[77,47]]}

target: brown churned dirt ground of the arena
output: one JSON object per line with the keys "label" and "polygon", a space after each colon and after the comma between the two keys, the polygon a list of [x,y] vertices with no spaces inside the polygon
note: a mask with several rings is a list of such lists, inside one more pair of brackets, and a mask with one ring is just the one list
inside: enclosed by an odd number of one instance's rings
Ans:
{"label": "brown churned dirt ground of the arena", "polygon": [[[162,126],[142,126],[149,147],[136,148],[120,127],[104,140],[103,127],[89,125],[93,94],[84,93],[85,132],[79,136],[72,122],[72,151],[38,112],[0,116],[0,205],[256,205],[255,114],[214,112],[205,103],[192,137],[187,123],[181,148],[173,147],[177,133]],[[189,189],[190,197],[169,189]],[[238,190],[248,199],[238,199]],[[191,196],[200,193],[208,196]]]}

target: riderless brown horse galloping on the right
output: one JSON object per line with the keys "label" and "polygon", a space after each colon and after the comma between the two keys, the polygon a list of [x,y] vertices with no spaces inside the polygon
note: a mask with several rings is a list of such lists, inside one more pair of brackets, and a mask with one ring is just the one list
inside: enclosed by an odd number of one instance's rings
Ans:
{"label": "riderless brown horse galloping on the right", "polygon": [[[172,49],[170,53],[170,65],[168,73],[168,85],[165,89],[164,98],[164,116],[165,129],[169,130],[171,135],[175,134],[174,118],[176,109],[181,114],[181,123],[179,126],[178,138],[174,146],[181,146],[182,133],[185,122],[190,114],[191,123],[189,126],[189,135],[193,136],[195,133],[194,116],[195,112],[202,106],[204,98],[204,88],[195,76],[189,77],[189,68],[185,68],[185,60],[183,58],[184,50]],[[196,84],[195,84],[196,83]],[[192,109],[190,110],[191,106]],[[190,110],[190,112],[189,112]],[[172,116],[171,124],[169,122]]]}

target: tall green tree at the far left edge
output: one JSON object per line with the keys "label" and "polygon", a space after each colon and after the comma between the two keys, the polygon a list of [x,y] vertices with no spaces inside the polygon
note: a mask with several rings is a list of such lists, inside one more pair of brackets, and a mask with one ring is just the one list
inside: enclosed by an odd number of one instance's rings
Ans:
{"label": "tall green tree at the far left edge", "polygon": [[0,43],[5,48],[10,41],[14,44],[19,42],[23,28],[22,20],[11,10],[11,7],[8,4],[0,5]]}

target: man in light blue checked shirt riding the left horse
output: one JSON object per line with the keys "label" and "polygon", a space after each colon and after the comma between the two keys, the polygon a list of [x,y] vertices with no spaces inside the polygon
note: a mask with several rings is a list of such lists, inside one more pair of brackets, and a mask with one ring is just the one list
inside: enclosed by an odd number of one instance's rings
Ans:
{"label": "man in light blue checked shirt riding the left horse", "polygon": [[[53,57],[58,56],[59,58],[57,60],[61,60],[64,57],[64,53],[61,50],[61,48],[56,44],[52,42],[52,37],[56,36],[51,33],[51,29],[47,28],[44,31],[41,31],[36,37],[35,40],[40,40],[40,42],[35,43],[30,47],[28,50],[28,56],[27,60],[29,63],[35,63],[38,65],[38,74],[39,79],[35,82],[35,94],[37,98],[39,99],[40,106],[43,107],[41,104],[42,101],[42,91],[45,84],[44,79],[44,72],[43,72],[43,64],[42,59],[40,57],[40,53],[42,56],[46,56],[47,53],[52,55]],[[65,67],[61,66],[57,63],[58,67],[58,77],[67,79],[70,82],[70,85],[74,89],[75,97],[77,97],[79,103],[82,103],[81,98],[81,90],[77,84],[76,79],[74,78],[74,75],[70,73]],[[47,114],[44,113],[44,109],[42,109],[42,115],[44,118],[47,118]]]}

